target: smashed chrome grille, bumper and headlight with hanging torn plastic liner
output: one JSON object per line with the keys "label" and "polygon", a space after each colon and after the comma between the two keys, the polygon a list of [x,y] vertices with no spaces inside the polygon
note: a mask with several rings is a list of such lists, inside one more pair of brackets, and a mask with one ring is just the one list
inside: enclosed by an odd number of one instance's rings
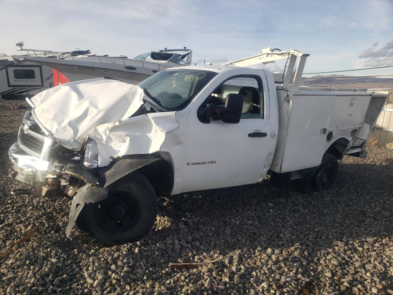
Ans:
{"label": "smashed chrome grille, bumper and headlight with hanging torn plastic liner", "polygon": [[[107,190],[97,186],[98,173],[86,167],[96,167],[92,164],[94,155],[88,153],[86,146],[81,151],[61,146],[28,111],[20,125],[18,141],[8,150],[13,165],[11,177],[28,185],[28,191],[12,190],[11,194],[45,196],[50,192],[63,192],[73,197],[67,236],[84,203],[108,197]],[[89,154],[87,157],[85,151]]]}

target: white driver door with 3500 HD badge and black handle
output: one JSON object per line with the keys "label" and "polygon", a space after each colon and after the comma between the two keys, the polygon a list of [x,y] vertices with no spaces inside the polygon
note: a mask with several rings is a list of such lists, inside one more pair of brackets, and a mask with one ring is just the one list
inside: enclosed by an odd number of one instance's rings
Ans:
{"label": "white driver door with 3500 HD badge and black handle", "polygon": [[261,77],[227,79],[204,103],[224,105],[230,93],[244,97],[237,124],[201,122],[195,109],[189,111],[182,192],[256,183],[263,180],[270,167],[275,142],[270,136],[271,124],[265,118],[268,98],[265,100]]}

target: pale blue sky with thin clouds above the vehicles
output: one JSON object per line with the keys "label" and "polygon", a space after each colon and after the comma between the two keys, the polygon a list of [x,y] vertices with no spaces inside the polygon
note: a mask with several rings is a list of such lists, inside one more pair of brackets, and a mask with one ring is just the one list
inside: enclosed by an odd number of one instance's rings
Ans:
{"label": "pale blue sky with thin clouds above the vehicles", "polygon": [[393,0],[0,0],[0,7],[7,55],[20,54],[17,41],[129,58],[186,46],[193,63],[220,65],[272,47],[309,53],[304,73],[393,65]]}

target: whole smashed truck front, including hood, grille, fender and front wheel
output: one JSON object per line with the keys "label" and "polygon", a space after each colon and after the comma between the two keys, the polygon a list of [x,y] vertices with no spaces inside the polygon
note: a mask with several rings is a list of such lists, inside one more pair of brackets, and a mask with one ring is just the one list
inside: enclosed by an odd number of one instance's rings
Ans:
{"label": "whole smashed truck front, including hood, grille, fender and front wheel", "polygon": [[108,79],[66,83],[28,102],[8,152],[11,176],[27,193],[73,198],[67,236],[77,223],[103,243],[140,240],[156,220],[157,195],[179,190],[173,155],[186,112],[176,117],[137,85]]}

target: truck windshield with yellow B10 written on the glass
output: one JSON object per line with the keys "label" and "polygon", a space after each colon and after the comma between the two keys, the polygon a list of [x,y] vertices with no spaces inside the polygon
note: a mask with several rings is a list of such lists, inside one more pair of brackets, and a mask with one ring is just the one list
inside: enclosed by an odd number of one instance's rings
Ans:
{"label": "truck windshield with yellow B10 written on the glass", "polygon": [[138,84],[168,111],[185,107],[217,73],[206,70],[165,70]]}

